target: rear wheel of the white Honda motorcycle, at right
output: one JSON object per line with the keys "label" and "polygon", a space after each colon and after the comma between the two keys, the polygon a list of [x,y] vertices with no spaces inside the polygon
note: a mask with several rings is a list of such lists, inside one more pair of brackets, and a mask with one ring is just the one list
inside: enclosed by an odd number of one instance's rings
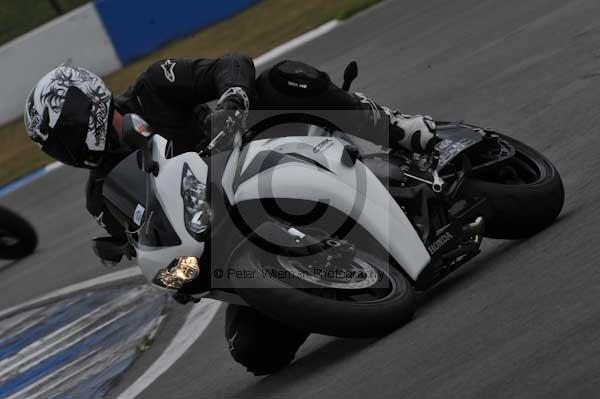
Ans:
{"label": "rear wheel of the white Honda motorcycle, at right", "polygon": [[551,225],[564,203],[564,188],[552,163],[533,148],[507,136],[513,158],[499,168],[467,179],[465,196],[488,199],[485,235],[491,238],[529,237]]}

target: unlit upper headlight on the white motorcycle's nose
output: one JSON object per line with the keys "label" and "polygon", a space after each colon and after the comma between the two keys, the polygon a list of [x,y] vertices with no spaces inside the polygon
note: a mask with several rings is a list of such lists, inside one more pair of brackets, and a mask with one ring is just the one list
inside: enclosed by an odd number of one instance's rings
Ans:
{"label": "unlit upper headlight on the white motorcycle's nose", "polygon": [[202,241],[210,233],[213,212],[206,200],[206,184],[199,181],[187,164],[181,176],[183,220],[188,233]]}

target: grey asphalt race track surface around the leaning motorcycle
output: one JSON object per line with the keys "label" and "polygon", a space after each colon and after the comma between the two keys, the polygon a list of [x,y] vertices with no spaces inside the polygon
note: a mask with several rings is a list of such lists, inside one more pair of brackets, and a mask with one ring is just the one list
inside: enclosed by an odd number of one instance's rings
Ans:
{"label": "grey asphalt race track surface around the leaning motorcycle", "polygon": [[[387,1],[288,55],[337,81],[357,60],[354,89],[380,103],[492,126],[541,150],[563,177],[563,212],[530,239],[487,241],[400,330],[378,340],[311,336],[269,377],[229,357],[221,311],[141,397],[598,397],[598,15],[597,0]],[[103,272],[91,260],[99,229],[83,209],[84,176],[61,168],[2,200],[41,236],[35,256],[2,267],[2,307]]]}

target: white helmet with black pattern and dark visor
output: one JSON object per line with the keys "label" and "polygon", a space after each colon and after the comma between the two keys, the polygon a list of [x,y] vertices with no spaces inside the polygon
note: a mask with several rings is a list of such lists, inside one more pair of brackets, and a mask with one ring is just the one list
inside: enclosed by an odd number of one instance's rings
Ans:
{"label": "white helmet with black pattern and dark visor", "polygon": [[68,165],[96,167],[106,150],[111,104],[112,94],[98,76],[60,66],[31,90],[25,129],[51,157]]}

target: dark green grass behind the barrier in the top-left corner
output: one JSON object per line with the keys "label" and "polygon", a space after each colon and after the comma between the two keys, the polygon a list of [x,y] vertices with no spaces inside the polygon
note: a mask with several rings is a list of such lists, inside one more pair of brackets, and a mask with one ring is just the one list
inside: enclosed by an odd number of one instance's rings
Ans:
{"label": "dark green grass behind the barrier in the top-left corner", "polygon": [[[0,45],[48,22],[58,15],[48,0],[0,0]],[[67,12],[89,0],[58,0]]]}

